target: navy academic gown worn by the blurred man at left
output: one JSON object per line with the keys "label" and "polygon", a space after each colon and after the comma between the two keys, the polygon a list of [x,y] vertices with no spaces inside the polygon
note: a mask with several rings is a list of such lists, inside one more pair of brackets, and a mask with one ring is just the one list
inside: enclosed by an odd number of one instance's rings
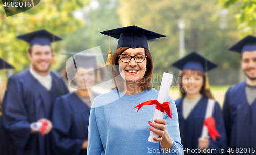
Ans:
{"label": "navy academic gown worn by the blurred man at left", "polygon": [[30,124],[41,118],[49,119],[57,97],[67,94],[68,88],[62,77],[50,71],[52,87],[48,91],[26,70],[9,78],[3,99],[3,123],[9,131],[16,154],[54,154],[50,134],[30,134]]}

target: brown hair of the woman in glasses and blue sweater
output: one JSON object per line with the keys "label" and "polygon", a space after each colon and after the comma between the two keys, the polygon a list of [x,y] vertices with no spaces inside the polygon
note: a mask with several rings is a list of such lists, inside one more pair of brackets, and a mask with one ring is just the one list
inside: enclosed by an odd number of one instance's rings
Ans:
{"label": "brown hair of the woman in glasses and blue sweater", "polygon": [[[129,49],[129,47],[120,47],[112,55],[111,77],[114,80],[116,88],[117,88],[117,85],[119,88],[121,88],[122,81],[123,81],[123,79],[119,79],[119,78],[121,78],[120,76],[118,76],[120,74],[120,72],[119,72],[119,69],[116,68],[116,66],[118,65],[118,60],[119,60],[118,55],[122,54],[127,49]],[[154,65],[153,65],[153,60],[152,60],[150,51],[148,51],[146,48],[144,48],[144,49],[145,49],[145,55],[147,56],[147,58],[146,58],[147,59],[146,73],[145,73],[144,77],[142,78],[142,80],[139,82],[139,88],[143,88],[144,90],[150,90],[151,89],[150,83],[151,83]],[[118,88],[117,88],[117,90],[118,90]]]}

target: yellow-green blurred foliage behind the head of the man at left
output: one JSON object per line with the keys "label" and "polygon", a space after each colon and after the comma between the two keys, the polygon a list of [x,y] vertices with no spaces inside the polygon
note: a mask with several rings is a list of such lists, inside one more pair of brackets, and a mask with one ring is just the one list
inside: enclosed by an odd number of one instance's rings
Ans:
{"label": "yellow-green blurred foliage behind the head of the man at left", "polygon": [[[13,64],[17,72],[23,71],[30,64],[27,57],[29,45],[16,39],[16,36],[40,29],[46,29],[60,37],[74,32],[84,26],[85,22],[75,18],[73,11],[82,9],[89,3],[89,0],[45,0],[25,12],[9,17],[6,17],[1,3],[0,57]],[[52,44],[52,48],[58,53],[62,49],[61,45],[61,41],[56,42]]]}

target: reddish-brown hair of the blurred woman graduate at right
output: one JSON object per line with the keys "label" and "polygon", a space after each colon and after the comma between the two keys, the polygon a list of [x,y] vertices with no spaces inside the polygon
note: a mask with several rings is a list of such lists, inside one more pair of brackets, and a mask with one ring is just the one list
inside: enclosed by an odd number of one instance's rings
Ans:
{"label": "reddish-brown hair of the blurred woman graduate at right", "polygon": [[183,85],[182,85],[182,76],[183,75],[199,75],[199,76],[203,76],[203,81],[204,82],[203,82],[203,86],[202,86],[202,88],[200,90],[200,93],[203,94],[206,98],[214,99],[214,96],[212,96],[211,91],[205,89],[205,82],[206,82],[205,74],[203,72],[201,72],[201,71],[198,71],[198,70],[189,70],[189,69],[183,70],[181,72],[181,74],[180,74],[179,85],[180,85],[180,91],[181,91],[182,97],[184,97],[186,95],[186,91],[184,90]]}

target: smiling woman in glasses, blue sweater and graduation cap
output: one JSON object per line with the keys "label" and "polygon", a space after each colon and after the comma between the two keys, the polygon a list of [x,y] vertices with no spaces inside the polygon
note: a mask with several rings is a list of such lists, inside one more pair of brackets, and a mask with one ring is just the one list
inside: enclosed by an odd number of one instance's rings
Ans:
{"label": "smiling woman in glasses, blue sweater and graduation cap", "polygon": [[[87,153],[162,154],[165,151],[166,154],[182,154],[178,115],[171,97],[167,101],[172,106],[173,119],[165,113],[164,119],[151,122],[148,120],[153,118],[155,106],[145,106],[138,113],[133,109],[140,103],[158,98],[159,92],[150,86],[153,61],[147,40],[164,36],[137,26],[101,33],[119,39],[111,60],[116,88],[93,101]],[[116,69],[115,65],[121,69]],[[117,76],[120,71],[121,76]],[[158,143],[148,142],[150,131],[159,135],[153,138]]]}

